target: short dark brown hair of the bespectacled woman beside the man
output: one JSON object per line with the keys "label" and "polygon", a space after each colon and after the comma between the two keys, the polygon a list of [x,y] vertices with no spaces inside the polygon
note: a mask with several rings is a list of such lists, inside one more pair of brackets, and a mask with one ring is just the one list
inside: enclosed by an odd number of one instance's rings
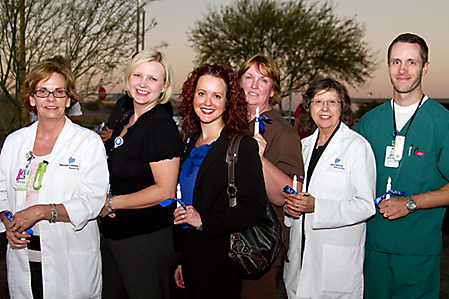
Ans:
{"label": "short dark brown hair of the bespectacled woman beside the man", "polygon": [[348,90],[343,84],[331,78],[322,78],[313,81],[302,95],[302,112],[299,116],[301,126],[310,132],[316,129],[316,124],[310,115],[310,102],[317,93],[323,90],[335,90],[338,99],[341,101],[340,120],[348,127],[351,127],[354,123],[354,113],[351,110],[351,98],[349,97]]}

